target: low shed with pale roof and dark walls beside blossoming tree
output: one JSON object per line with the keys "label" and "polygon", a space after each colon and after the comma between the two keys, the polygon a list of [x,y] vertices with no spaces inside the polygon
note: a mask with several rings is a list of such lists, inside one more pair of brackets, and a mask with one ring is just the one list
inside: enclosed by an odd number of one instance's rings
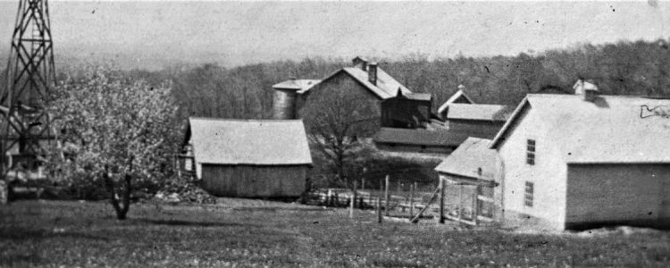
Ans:
{"label": "low shed with pale roof and dark walls beside blossoming tree", "polygon": [[188,119],[197,179],[220,197],[298,197],[312,157],[300,120]]}

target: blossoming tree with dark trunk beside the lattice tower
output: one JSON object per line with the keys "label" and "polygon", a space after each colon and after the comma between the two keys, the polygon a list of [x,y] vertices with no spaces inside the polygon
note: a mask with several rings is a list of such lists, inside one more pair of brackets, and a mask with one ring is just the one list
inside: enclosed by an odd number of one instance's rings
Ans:
{"label": "blossoming tree with dark trunk beside the lattice tower", "polygon": [[126,218],[133,186],[172,172],[176,107],[170,87],[90,71],[54,90],[48,107],[69,176],[103,180],[118,219]]}

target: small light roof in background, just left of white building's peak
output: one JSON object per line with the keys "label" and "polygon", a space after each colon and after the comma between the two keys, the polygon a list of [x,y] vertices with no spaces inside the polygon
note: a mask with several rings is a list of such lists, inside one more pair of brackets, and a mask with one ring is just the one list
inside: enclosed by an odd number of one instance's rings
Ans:
{"label": "small light roof in background, just left of white building's peak", "polygon": [[481,121],[507,121],[512,113],[507,105],[470,105],[451,104],[448,107],[447,120],[466,119]]}

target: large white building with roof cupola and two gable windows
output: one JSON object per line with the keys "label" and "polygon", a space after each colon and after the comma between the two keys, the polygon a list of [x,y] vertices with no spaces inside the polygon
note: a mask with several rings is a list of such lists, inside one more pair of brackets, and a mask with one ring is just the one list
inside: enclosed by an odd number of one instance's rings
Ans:
{"label": "large white building with roof cupola and two gable windows", "polygon": [[492,140],[506,222],[668,227],[670,100],[575,88],[526,96]]}

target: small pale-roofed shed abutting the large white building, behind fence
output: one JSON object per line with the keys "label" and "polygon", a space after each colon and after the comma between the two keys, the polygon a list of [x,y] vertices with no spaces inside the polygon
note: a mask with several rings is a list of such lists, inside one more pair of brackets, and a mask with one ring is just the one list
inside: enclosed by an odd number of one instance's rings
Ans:
{"label": "small pale-roofed shed abutting the large white building, behind fence", "polygon": [[[445,216],[470,224],[501,220],[500,167],[490,139],[467,138],[435,171],[445,188]],[[467,212],[467,213],[465,213]]]}

